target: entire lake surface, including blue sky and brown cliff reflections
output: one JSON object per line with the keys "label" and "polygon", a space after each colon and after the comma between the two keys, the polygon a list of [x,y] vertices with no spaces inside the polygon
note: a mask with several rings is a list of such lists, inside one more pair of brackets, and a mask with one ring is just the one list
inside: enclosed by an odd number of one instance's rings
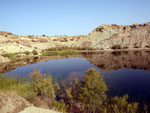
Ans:
{"label": "entire lake surface, including blue sky and brown cliff reflections", "polygon": [[91,67],[104,76],[108,95],[128,94],[131,100],[150,103],[149,51],[86,53],[18,67],[5,74],[25,77],[36,68],[53,77],[72,80],[76,77],[82,79]]}

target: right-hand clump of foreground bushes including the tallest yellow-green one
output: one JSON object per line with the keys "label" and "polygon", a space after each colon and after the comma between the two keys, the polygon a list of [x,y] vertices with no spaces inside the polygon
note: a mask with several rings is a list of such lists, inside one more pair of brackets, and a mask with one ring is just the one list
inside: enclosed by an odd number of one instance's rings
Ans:
{"label": "right-hand clump of foreground bushes including the tallest yellow-green one", "polygon": [[[80,109],[85,113],[138,113],[138,103],[129,103],[127,95],[107,97],[107,86],[103,77],[95,69],[89,69],[83,81],[74,82],[73,86],[70,88],[65,86],[64,89],[67,90],[62,93],[69,103],[68,110],[71,112]],[[80,103],[80,108],[76,103]]]}

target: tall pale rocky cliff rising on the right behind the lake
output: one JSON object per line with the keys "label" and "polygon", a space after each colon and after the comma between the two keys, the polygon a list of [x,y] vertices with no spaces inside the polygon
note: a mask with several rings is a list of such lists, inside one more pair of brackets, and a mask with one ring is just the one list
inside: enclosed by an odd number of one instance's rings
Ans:
{"label": "tall pale rocky cliff rising on the right behind the lake", "polygon": [[101,25],[81,40],[81,43],[85,47],[103,50],[115,47],[150,48],[150,23],[130,26]]}

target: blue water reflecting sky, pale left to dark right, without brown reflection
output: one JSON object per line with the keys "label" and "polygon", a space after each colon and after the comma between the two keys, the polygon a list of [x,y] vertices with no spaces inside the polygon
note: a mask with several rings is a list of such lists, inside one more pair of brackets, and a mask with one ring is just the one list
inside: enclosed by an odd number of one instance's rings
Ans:
{"label": "blue water reflecting sky, pale left to dark right, without brown reflection", "polygon": [[[7,75],[27,76],[33,69],[41,70],[42,73],[52,76],[62,76],[63,79],[78,78],[91,67],[96,68],[104,75],[104,79],[109,88],[109,95],[129,94],[134,97],[150,102],[150,71],[140,69],[117,69],[104,71],[84,58],[56,59],[39,62],[32,65],[18,67]],[[82,76],[83,77],[83,76]]]}

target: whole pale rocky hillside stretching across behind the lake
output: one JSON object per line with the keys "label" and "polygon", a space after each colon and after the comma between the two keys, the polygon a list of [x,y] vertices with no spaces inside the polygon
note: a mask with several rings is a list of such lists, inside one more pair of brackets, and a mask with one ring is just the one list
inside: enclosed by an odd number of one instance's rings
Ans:
{"label": "whole pale rocky hillside stretching across behind the lake", "polygon": [[18,36],[0,32],[0,54],[42,51],[47,48],[133,49],[150,48],[150,23],[101,25],[87,36]]}

